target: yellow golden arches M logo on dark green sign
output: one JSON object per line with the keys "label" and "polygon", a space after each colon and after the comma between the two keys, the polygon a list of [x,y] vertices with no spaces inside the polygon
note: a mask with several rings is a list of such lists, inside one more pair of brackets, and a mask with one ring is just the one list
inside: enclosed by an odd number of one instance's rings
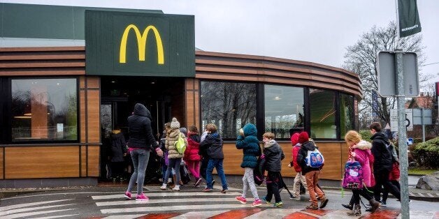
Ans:
{"label": "yellow golden arches M logo on dark green sign", "polygon": [[163,44],[161,43],[160,33],[159,31],[157,31],[157,28],[155,28],[152,25],[146,27],[143,33],[141,33],[141,31],[139,31],[136,25],[134,24],[129,24],[128,27],[125,28],[124,34],[122,35],[122,40],[120,41],[119,62],[127,63],[127,40],[128,40],[129,31],[131,29],[133,29],[134,33],[136,33],[137,46],[138,46],[138,61],[145,61],[147,36],[148,33],[152,30],[152,32],[154,32],[155,40],[157,43],[157,63],[163,65],[164,53],[163,53]]}

